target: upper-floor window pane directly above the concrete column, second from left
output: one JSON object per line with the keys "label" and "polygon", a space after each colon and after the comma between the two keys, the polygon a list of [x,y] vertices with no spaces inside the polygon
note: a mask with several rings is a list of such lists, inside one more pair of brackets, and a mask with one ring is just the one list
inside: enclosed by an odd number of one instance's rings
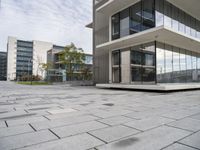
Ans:
{"label": "upper-floor window pane directly above the concrete column, second from left", "polygon": [[120,37],[129,35],[129,8],[120,12]]}

